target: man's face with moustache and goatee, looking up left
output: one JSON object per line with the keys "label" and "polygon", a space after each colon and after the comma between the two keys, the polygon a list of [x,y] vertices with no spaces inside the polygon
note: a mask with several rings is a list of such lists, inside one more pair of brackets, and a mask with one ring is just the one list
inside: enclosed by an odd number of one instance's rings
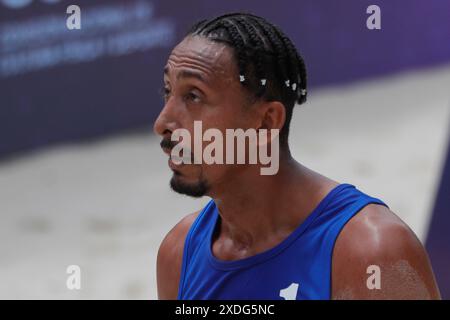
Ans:
{"label": "man's face with moustache and goatee, looking up left", "polygon": [[[232,49],[225,44],[200,36],[188,36],[172,51],[164,69],[165,105],[155,122],[154,130],[163,137],[167,154],[177,144],[170,143],[176,129],[186,129],[193,149],[194,121],[202,122],[202,131],[209,128],[255,128],[255,106],[248,105],[248,96],[239,83],[239,73]],[[181,141],[180,143],[183,143]],[[202,149],[209,142],[203,142]],[[186,144],[186,143],[185,143]],[[225,157],[225,150],[224,157]],[[174,175],[172,188],[191,196],[210,194],[220,188],[224,179],[232,179],[243,166],[229,164],[180,164],[169,159]]]}

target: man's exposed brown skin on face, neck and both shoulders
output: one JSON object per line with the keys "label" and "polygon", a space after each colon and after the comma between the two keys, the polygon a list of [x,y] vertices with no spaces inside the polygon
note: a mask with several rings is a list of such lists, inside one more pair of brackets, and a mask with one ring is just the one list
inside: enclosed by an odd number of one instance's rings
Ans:
{"label": "man's exposed brown skin on face, neck and both shoulders", "polygon": [[[166,101],[154,130],[168,138],[177,128],[193,136],[194,120],[203,130],[218,128],[281,129],[281,102],[249,103],[239,83],[232,49],[188,36],[172,51],[164,75]],[[169,153],[169,150],[164,150]],[[170,161],[169,161],[170,162]],[[185,184],[208,181],[222,223],[212,252],[238,260],[266,251],[289,236],[338,185],[280,150],[279,171],[262,176],[259,165],[182,164],[174,166]],[[159,299],[176,299],[184,241],[199,212],[184,217],[158,251]],[[388,208],[370,204],[341,231],[332,260],[333,299],[439,299],[427,254],[414,233]],[[381,269],[381,289],[369,290],[369,265]]]}

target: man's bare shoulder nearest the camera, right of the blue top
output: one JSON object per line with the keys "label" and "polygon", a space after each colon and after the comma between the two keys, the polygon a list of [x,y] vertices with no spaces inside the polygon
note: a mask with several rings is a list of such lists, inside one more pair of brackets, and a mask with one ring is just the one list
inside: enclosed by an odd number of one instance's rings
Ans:
{"label": "man's bare shoulder nearest the camera, right of the blue top", "polygon": [[338,236],[332,265],[334,299],[437,299],[427,253],[392,211],[370,204]]}

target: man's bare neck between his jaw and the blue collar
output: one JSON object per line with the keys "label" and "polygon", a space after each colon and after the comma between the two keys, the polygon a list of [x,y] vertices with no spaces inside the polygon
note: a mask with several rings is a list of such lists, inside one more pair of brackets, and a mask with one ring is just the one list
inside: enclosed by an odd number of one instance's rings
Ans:
{"label": "man's bare neck between his jaw and the blue collar", "polygon": [[276,175],[260,175],[258,166],[247,168],[211,194],[221,217],[220,236],[242,250],[284,239],[329,191],[327,183],[333,184],[290,153],[280,158]]}

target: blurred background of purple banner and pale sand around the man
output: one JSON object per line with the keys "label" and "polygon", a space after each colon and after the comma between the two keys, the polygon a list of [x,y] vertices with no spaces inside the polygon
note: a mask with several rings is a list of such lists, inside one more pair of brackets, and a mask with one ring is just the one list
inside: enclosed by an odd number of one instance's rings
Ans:
{"label": "blurred background of purple banner and pale sand around the man", "polygon": [[279,25],[306,60],[293,153],[384,199],[450,298],[449,1],[0,0],[1,298],[156,297],[159,242],[207,201],[168,188],[151,134],[162,68],[189,25],[229,11]]}

